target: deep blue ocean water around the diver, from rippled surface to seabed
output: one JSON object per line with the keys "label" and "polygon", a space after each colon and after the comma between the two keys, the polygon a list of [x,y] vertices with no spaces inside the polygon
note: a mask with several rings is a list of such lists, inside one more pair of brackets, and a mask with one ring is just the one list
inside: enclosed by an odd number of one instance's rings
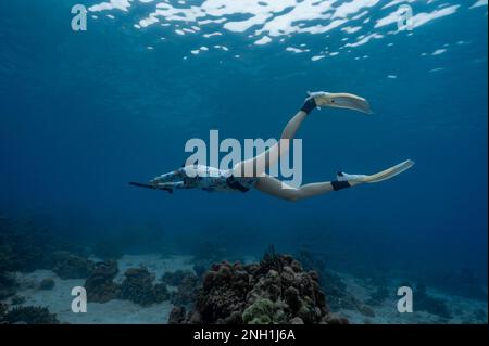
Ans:
{"label": "deep blue ocean water around the diver, from rippled surface to seabed", "polygon": [[[0,3],[0,214],[125,254],[274,244],[361,278],[469,270],[487,287],[487,1],[101,1]],[[303,183],[415,166],[297,203],[127,184],[179,167],[212,129],[278,138],[316,90],[374,114],[314,111]]]}

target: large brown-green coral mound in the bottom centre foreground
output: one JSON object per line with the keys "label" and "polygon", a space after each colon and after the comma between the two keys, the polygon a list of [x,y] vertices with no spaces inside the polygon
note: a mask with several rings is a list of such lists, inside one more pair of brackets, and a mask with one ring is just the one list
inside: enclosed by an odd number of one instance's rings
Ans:
{"label": "large brown-green coral mound in the bottom centre foreground", "polygon": [[[178,313],[177,313],[178,312]],[[173,321],[181,319],[181,309]],[[185,315],[185,313],[184,313]],[[178,317],[175,318],[175,316]],[[260,264],[223,261],[202,279],[183,323],[346,323],[329,315],[318,275],[269,247]]]}

